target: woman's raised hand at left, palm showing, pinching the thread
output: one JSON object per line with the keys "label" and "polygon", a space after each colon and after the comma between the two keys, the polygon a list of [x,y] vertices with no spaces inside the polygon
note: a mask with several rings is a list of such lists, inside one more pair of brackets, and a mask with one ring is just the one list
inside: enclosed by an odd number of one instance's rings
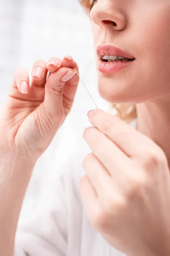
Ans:
{"label": "woman's raised hand at left, palm showing, pinching the thread", "polygon": [[79,82],[74,69],[70,56],[36,61],[30,85],[27,70],[16,71],[0,115],[0,150],[40,157],[73,105]]}

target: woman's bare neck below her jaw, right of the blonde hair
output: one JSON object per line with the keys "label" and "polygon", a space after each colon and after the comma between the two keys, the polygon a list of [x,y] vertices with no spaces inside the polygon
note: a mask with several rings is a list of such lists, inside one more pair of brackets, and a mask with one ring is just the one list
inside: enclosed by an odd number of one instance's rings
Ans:
{"label": "woman's bare neck below her jaw, right of the blonde hair", "polygon": [[136,109],[137,130],[163,149],[170,166],[170,100],[141,103]]}

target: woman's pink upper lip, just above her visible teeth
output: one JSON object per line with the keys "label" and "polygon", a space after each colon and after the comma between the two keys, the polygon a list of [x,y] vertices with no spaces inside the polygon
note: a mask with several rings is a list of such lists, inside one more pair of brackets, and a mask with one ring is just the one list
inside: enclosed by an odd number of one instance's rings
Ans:
{"label": "woman's pink upper lip, just above her visible teeth", "polygon": [[122,49],[119,49],[110,44],[99,45],[96,49],[96,53],[100,59],[105,55],[122,56],[128,59],[134,59],[135,57]]}

